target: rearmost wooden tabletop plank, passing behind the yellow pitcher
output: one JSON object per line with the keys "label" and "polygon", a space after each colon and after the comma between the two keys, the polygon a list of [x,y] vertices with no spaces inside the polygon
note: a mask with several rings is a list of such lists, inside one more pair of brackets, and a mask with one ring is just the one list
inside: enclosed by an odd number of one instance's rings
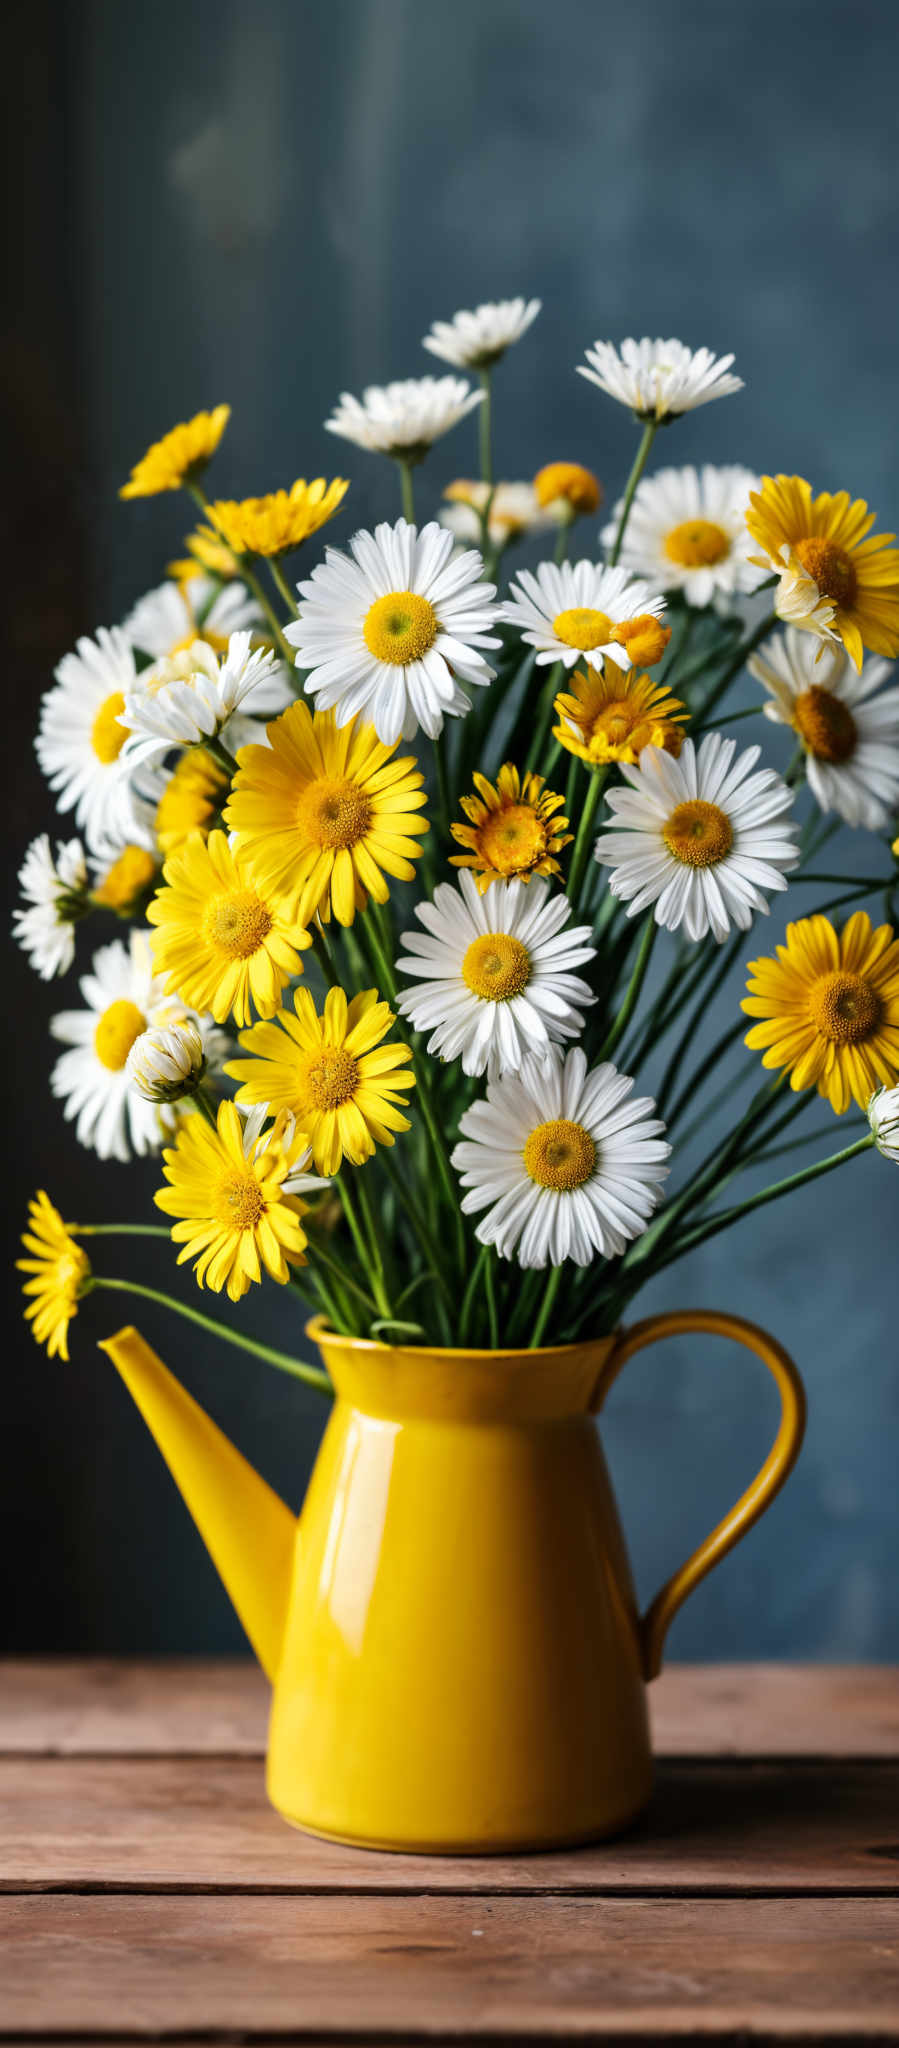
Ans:
{"label": "rearmost wooden tabletop plank, passing behind the yellow pitcher", "polygon": [[[895,1665],[670,1665],[649,1688],[659,1755],[899,1757]],[[262,1755],[268,1688],[238,1659],[6,1659],[0,1751]]]}

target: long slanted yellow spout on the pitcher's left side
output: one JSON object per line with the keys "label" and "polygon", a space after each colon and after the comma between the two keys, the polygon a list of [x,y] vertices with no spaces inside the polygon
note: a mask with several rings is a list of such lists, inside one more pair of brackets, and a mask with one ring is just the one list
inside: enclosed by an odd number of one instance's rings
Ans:
{"label": "long slanted yellow spout on the pitcher's left side", "polygon": [[254,1473],[137,1329],[100,1343],[139,1407],[190,1509],[256,1657],[281,1665],[297,1518]]}

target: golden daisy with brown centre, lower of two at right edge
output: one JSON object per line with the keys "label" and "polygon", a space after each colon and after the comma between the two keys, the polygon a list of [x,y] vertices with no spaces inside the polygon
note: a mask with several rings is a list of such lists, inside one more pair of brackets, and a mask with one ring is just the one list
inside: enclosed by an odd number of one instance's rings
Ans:
{"label": "golden daisy with brown centre, lower of two at right edge", "polygon": [[776,958],[750,961],[745,1034],[764,1067],[786,1067],[790,1087],[817,1087],[842,1116],[899,1077],[899,942],[856,909],[838,934],[829,918],[786,926]]}

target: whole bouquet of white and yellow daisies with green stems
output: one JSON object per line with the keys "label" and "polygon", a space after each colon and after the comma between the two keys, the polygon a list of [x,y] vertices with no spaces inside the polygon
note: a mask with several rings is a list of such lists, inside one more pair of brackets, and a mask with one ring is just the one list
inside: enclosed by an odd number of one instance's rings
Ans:
{"label": "whole bouquet of white and yellow daisies with green stems", "polygon": [[[170,1237],[231,1303],[268,1274],[348,1335],[532,1348],[612,1331],[672,1260],[870,1145],[899,1157],[899,940],[862,907],[889,918],[899,883],[893,537],[803,477],[651,471],[741,383],[731,356],[627,340],[580,365],[639,434],[598,553],[588,467],[494,477],[494,383],[537,313],[436,322],[446,375],[340,397],[328,430],[393,465],[401,516],[324,559],[346,479],[207,492],[227,406],[121,492],[182,489],[201,518],[43,698],[80,838],[29,848],[16,936],[51,979],[88,918],[129,922],[53,1018],[51,1087],[102,1159],[160,1153],[166,1221],[63,1223],[37,1194],[20,1266],[51,1354],[90,1290],[127,1288],[88,1264],[104,1231]],[[465,420],[479,475],[416,524]],[[516,571],[530,537],[545,559]],[[784,774],[731,733],[750,717],[793,731]],[[870,874],[821,868],[844,825]],[[823,907],[745,963],[756,915],[809,883]],[[649,1057],[655,1100],[631,1079]],[[817,1096],[840,1149],[723,1202],[823,1135]],[[328,1386],[291,1343],[170,1307]]]}

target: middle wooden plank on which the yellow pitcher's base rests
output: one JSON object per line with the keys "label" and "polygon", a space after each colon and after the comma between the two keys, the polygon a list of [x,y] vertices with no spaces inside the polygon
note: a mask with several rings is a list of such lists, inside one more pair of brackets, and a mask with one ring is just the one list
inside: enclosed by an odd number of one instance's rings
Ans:
{"label": "middle wooden plank on which the yellow pitcher's base rests", "polygon": [[0,1888],[899,1894],[899,1765],[668,1763],[616,1841],[426,1858],[287,1827],[258,1759],[4,1759]]}

